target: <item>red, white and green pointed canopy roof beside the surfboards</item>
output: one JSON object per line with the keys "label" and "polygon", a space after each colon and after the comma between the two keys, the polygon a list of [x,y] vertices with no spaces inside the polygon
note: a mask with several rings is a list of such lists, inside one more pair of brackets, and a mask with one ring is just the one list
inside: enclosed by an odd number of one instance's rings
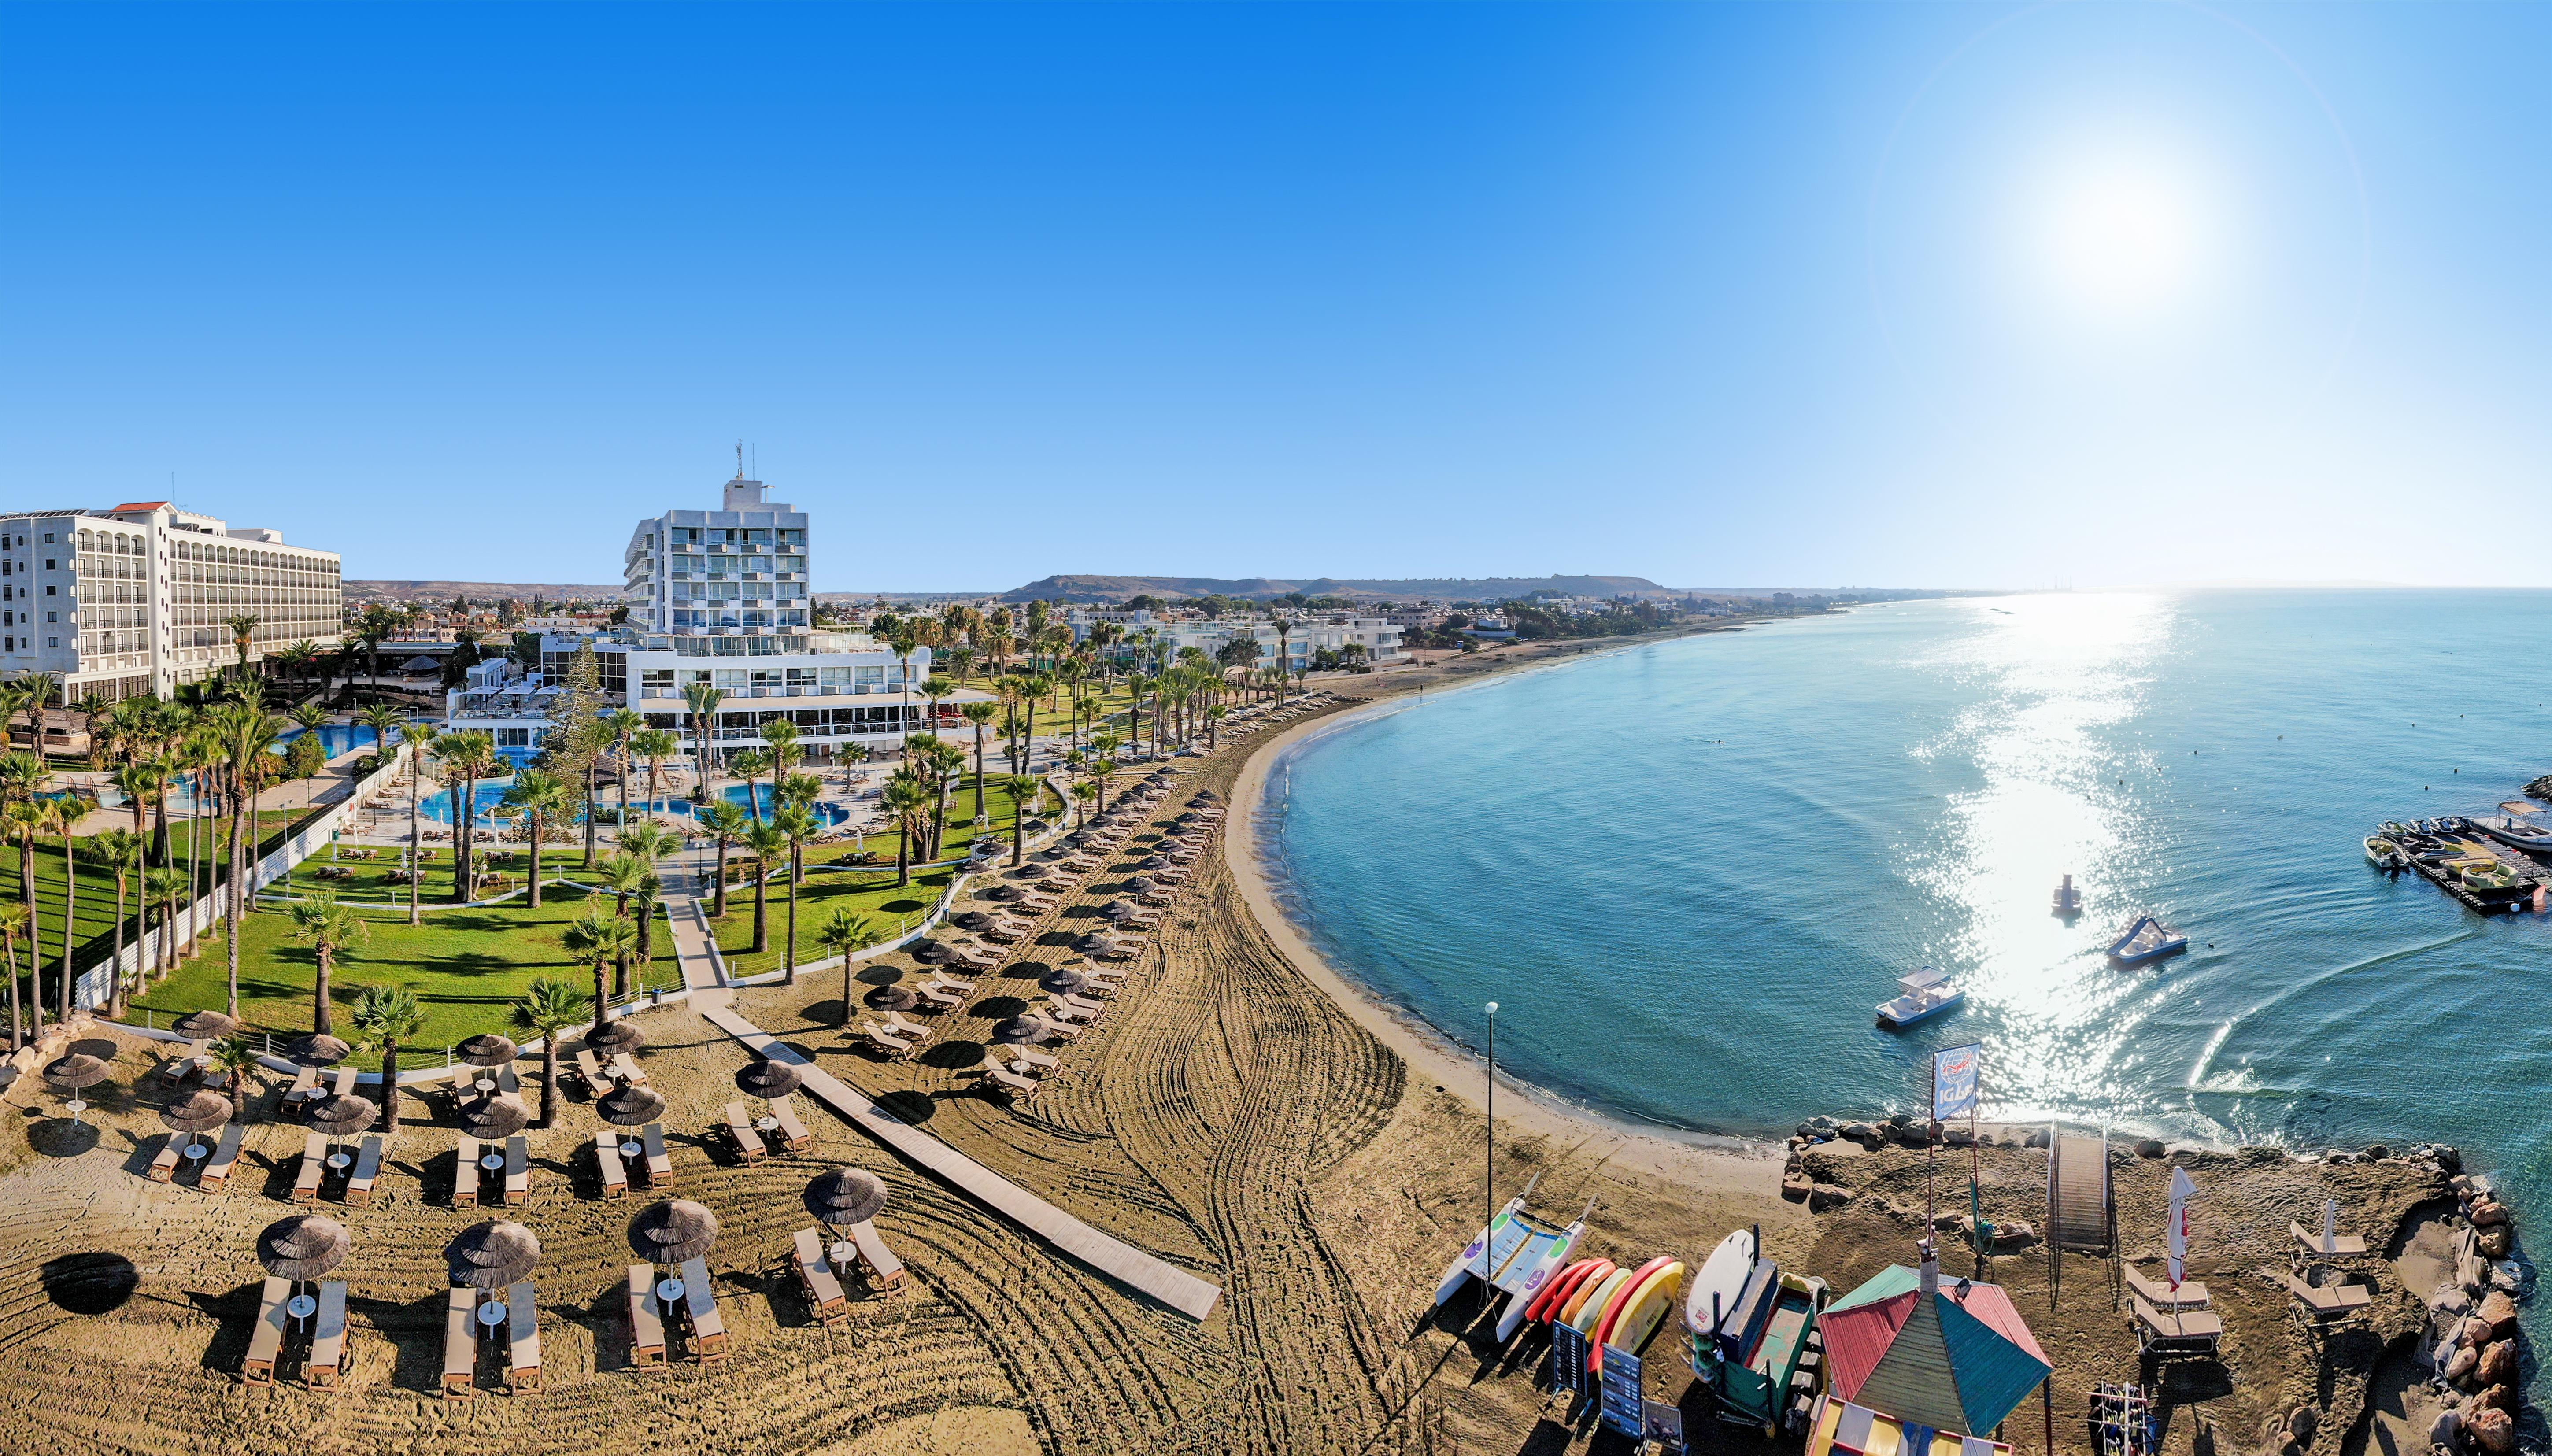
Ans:
{"label": "red, white and green pointed canopy roof beside the surfboards", "polygon": [[1832,1392],[1904,1425],[1991,1436],[2052,1369],[2001,1285],[1888,1265],[1822,1318]]}

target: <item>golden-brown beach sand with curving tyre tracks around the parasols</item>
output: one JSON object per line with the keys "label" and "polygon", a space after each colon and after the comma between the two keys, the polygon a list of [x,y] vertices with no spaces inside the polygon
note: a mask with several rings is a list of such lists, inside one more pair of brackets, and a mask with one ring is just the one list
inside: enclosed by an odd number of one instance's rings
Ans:
{"label": "golden-brown beach sand with curving tyre tracks around the parasols", "polygon": [[[1521,650],[1503,666],[1529,663]],[[1554,658],[1562,653],[1544,653]],[[1575,655],[1575,650],[1564,653]],[[1485,658],[1485,655],[1483,655]],[[1442,688],[1493,671],[1378,673],[1340,681],[1365,699]],[[1245,765],[1271,734],[1212,760],[1194,788],[1248,803]],[[1250,768],[1248,773],[1256,773]],[[1240,813],[1235,813],[1240,819]],[[1483,1206],[1480,1068],[1363,1002],[1266,913],[1245,854],[1245,824],[1207,854],[1100,1025],[1054,1048],[1064,1068],[1008,1109],[972,1089],[990,1020],[1034,997],[1105,903],[1110,859],[1021,961],[944,1017],[914,1061],[855,1051],[837,1028],[840,974],[740,992],[743,1015],[835,1076],[878,1096],[993,1170],[1085,1221],[1222,1285],[1202,1323],[1151,1306],[1018,1234],[929,1176],[906,1168],[832,1114],[809,1107],[817,1150],[735,1165],[709,1132],[748,1061],[686,1007],[646,1012],[643,1066],[671,1102],[666,1130],[679,1193],[722,1221],[717,1293],[735,1359],[669,1372],[628,1369],[618,1278],[630,1262],[625,1221],[646,1196],[602,1201],[584,1145],[597,1127],[572,1094],[556,1132],[536,1135],[536,1193],[518,1216],[541,1237],[541,1395],[493,1382],[472,1402],[434,1395],[444,1244],[487,1211],[449,1209],[452,1125],[408,1099],[383,1196],[373,1209],[322,1211],[355,1239],[342,1278],[352,1293],[352,1372],[337,1392],[286,1382],[248,1390],[240,1354],[260,1270],[260,1227],[291,1209],[301,1130],[271,1119],[273,1089],[250,1114],[250,1153],[222,1196],[148,1183],[158,1145],[156,1094],[130,1091],[158,1048],[115,1040],[115,1084],[92,1091],[87,1132],[54,1109],[36,1079],[8,1091],[0,1127],[0,1448],[28,1451],[773,1451],[868,1456],[888,1451],[1575,1451],[1590,1423],[1536,1390],[1541,1339],[1493,1349],[1470,1293],[1447,1311],[1429,1298],[1478,1229]],[[911,977],[906,956],[863,964],[855,994]],[[411,1058],[413,1061],[413,1058]],[[526,1084],[536,1063],[523,1063]],[[526,1086],[526,1094],[533,1094]],[[1814,1109],[1802,1109],[1814,1112]],[[1843,1109],[1825,1109],[1843,1112]],[[441,1117],[436,1125],[434,1117]],[[1590,1252],[1623,1262],[1697,1257],[1730,1227],[1761,1224],[1771,1255],[1822,1275],[1837,1293],[1888,1262],[1911,1262],[1922,1155],[1820,1150],[1814,1170],[1853,1201],[1809,1214],[1779,1196],[1786,1147],[1656,1137],[1592,1119],[1552,1099],[1498,1096],[1495,1196],[1541,1176],[1534,1204],[1569,1216],[1592,1201]],[[880,1234],[911,1288],[852,1288],[852,1321],[809,1323],[773,1262],[812,1219],[804,1181],[824,1165],[880,1173],[891,1201]],[[2419,1306],[2378,1260],[2373,1329],[2307,1339],[2281,1316],[2256,1265],[2284,1262],[2284,1221],[2317,1219],[2345,1198],[2345,1221],[2407,1237],[2407,1216],[2435,1178],[2401,1165],[2302,1165],[2276,1153],[2202,1155],[2207,1188],[2197,1272],[2233,1326],[2225,1367],[2167,1377],[2169,1446],[2190,1451],[2197,1415],[2233,1446],[2297,1402],[2327,1408],[2315,1451],[2353,1451],[2366,1392],[2399,1395],[2399,1346]],[[1960,1201],[1945,1160],[1945,1204]],[[1991,1147],[1985,1209],[2044,1221],[2044,1155]],[[2159,1160],[2121,1165],[2128,1255],[2151,1255],[2162,1229]],[[2133,1234],[2146,1229],[2149,1237]],[[1970,1270],[1952,1255],[1952,1275]],[[2133,1377],[2133,1341],[2108,1300],[2108,1265],[2067,1257],[2065,1298],[2047,1313],[2039,1249],[1993,1260],[1983,1278],[2014,1285],[2019,1308],[2057,1359],[2054,1433],[2088,1448],[2082,1387]],[[1669,1323],[1649,1346],[1649,1395],[1684,1402],[1712,1448],[1763,1448],[1715,1425],[1689,1397]],[[2391,1364],[2386,1364],[2391,1362]],[[2391,1372],[2378,1380],[2381,1372]],[[2417,1410],[2368,1433],[2417,1423]],[[2417,1423],[2424,1431],[2424,1423]],[[2036,1402],[2011,1436],[2039,1448]],[[1618,1448],[1618,1446],[1615,1446]],[[2391,1446],[2386,1446],[2391,1448]]]}

